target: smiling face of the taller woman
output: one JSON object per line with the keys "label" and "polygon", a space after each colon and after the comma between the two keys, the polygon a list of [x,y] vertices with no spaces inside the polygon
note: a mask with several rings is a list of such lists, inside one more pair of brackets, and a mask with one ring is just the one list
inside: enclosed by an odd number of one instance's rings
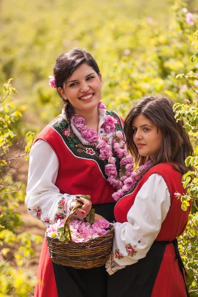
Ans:
{"label": "smiling face of the taller woman", "polygon": [[80,65],[63,84],[58,88],[62,97],[69,100],[75,113],[91,111],[96,108],[101,99],[101,74],[86,63]]}

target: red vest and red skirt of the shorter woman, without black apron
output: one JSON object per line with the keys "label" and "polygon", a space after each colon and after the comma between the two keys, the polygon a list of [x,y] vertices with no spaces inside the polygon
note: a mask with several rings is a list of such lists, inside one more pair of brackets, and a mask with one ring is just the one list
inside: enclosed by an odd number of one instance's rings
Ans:
{"label": "red vest and red skirt of the shorter woman, without black apron", "polygon": [[[161,230],[156,238],[157,241],[173,241],[180,236],[187,225],[190,207],[187,211],[181,209],[181,201],[174,196],[174,193],[185,193],[181,183],[182,174],[173,169],[169,163],[158,164],[152,167],[142,178],[135,191],[120,199],[114,209],[114,216],[118,222],[127,222],[127,213],[132,207],[137,193],[151,174],[160,174],[168,187],[171,198],[171,206],[168,214],[161,225]],[[162,263],[155,280],[151,297],[186,297],[184,280],[179,270],[178,260],[175,259],[173,244],[166,246]]]}

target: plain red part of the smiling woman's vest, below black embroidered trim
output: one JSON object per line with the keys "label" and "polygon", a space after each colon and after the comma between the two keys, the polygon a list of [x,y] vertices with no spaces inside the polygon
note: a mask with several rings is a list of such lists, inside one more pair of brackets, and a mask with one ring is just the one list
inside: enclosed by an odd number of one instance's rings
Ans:
{"label": "plain red part of the smiling woman's vest, below black embroidered trim", "polygon": [[55,185],[60,193],[90,195],[93,204],[115,202],[113,187],[102,177],[98,163],[74,156],[59,134],[49,126],[36,141],[39,139],[48,142],[58,156],[59,171]]}

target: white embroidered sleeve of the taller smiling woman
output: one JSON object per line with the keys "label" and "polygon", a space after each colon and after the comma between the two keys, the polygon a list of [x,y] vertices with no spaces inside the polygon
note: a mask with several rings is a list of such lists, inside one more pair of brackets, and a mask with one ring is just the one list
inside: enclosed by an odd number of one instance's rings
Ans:
{"label": "white embroidered sleeve of the taller smiling woman", "polygon": [[64,219],[70,212],[70,202],[76,199],[74,195],[60,194],[55,186],[58,165],[53,149],[46,141],[38,140],[30,151],[25,203],[28,212],[47,226]]}

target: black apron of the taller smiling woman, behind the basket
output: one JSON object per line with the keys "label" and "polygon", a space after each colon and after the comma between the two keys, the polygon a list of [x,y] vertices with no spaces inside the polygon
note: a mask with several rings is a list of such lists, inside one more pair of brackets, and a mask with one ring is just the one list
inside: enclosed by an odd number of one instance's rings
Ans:
{"label": "black apron of the taller smiling woman, behind the basket", "polygon": [[[95,212],[109,222],[115,203],[94,204]],[[108,274],[105,265],[92,269],[76,269],[53,263],[58,297],[107,297]]]}

